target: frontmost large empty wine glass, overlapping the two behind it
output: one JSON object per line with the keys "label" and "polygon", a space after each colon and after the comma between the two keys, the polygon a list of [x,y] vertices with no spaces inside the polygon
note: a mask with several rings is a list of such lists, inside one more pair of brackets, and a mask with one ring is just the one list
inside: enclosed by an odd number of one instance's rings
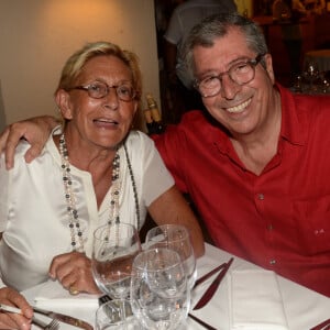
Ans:
{"label": "frontmost large empty wine glass, overlapping the two behind it", "polygon": [[150,249],[135,257],[131,306],[145,329],[177,329],[187,318],[190,292],[177,252],[164,248]]}

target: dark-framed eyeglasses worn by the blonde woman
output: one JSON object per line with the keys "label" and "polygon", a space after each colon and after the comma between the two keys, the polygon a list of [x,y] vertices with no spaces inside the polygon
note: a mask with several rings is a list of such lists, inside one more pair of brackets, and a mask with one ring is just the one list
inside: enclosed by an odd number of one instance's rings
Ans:
{"label": "dark-framed eyeglasses worn by the blonde woman", "polygon": [[116,95],[121,101],[129,102],[136,97],[136,91],[130,84],[109,86],[108,84],[102,81],[94,81],[86,86],[75,86],[68,88],[67,91],[70,91],[73,89],[80,89],[87,91],[88,96],[92,99],[101,99],[109,95],[110,88],[113,88],[116,90]]}

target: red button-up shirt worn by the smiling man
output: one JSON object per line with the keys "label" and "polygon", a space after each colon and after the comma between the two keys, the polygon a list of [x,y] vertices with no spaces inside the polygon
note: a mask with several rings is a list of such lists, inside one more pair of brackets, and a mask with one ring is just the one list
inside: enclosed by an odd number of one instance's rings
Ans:
{"label": "red button-up shirt worn by the smiling man", "polygon": [[217,246],[330,296],[330,97],[278,88],[278,150],[258,176],[201,111],[155,141]]}

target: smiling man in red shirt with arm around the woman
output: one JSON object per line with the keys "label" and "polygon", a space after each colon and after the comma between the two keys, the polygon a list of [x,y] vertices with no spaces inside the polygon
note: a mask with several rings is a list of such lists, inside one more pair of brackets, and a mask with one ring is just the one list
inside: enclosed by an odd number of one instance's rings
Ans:
{"label": "smiling man in red shirt with arm around the woman", "polygon": [[[185,54],[207,111],[154,136],[176,185],[218,248],[330,297],[330,97],[277,84],[260,26],[239,14],[205,19]],[[9,167],[19,139],[29,162],[42,150],[50,120],[7,128]]]}

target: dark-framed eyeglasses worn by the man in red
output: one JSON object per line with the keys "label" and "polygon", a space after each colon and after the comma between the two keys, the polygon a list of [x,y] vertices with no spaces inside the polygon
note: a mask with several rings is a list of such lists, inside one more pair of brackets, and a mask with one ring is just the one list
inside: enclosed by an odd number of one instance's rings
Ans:
{"label": "dark-framed eyeglasses worn by the man in red", "polygon": [[227,70],[217,76],[208,76],[200,81],[195,82],[196,89],[204,98],[210,98],[218,95],[222,88],[222,77],[228,75],[229,78],[242,86],[254,79],[255,67],[265,54],[258,54],[254,59],[240,62],[234,64]]}

